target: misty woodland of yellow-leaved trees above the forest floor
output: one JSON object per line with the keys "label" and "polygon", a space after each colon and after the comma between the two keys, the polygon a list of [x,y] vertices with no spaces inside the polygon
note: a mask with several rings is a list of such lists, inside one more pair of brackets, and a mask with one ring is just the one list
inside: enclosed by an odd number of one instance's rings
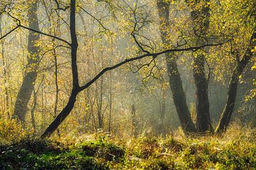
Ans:
{"label": "misty woodland of yellow-leaved trees above the forest floor", "polygon": [[2,123],[43,137],[255,127],[255,1],[10,0],[0,11]]}

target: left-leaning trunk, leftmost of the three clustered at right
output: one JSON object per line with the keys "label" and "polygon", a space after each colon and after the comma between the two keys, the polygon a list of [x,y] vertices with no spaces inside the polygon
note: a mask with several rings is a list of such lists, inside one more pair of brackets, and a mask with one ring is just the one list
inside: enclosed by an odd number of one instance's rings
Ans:
{"label": "left-leaning trunk, leftmost of the three clustered at right", "polygon": [[[169,8],[170,2],[164,0],[157,0],[157,8],[160,18],[160,33],[161,40],[164,45],[169,45],[169,40],[167,39],[167,32],[169,28]],[[196,132],[196,127],[193,124],[191,114],[188,111],[188,106],[186,104],[186,96],[183,91],[182,81],[180,74],[178,72],[178,66],[176,63],[176,57],[173,53],[166,53],[166,66],[169,75],[169,85],[174,98],[174,104],[176,106],[176,111],[178,113],[178,118],[181,121],[181,126],[184,132]]]}

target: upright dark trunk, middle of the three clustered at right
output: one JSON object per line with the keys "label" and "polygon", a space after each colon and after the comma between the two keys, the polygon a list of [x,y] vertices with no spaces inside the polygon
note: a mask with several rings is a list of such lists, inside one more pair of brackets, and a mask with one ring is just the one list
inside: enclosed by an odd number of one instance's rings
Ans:
{"label": "upright dark trunk, middle of the three clustered at right", "polygon": [[[203,38],[206,38],[209,27],[209,0],[186,0],[186,3],[191,8],[193,30],[196,35],[195,44],[203,45]],[[213,127],[210,123],[208,80],[206,79],[205,61],[205,55],[197,55],[196,52],[193,53],[193,77],[196,86],[196,128],[198,132],[213,132]]]}

